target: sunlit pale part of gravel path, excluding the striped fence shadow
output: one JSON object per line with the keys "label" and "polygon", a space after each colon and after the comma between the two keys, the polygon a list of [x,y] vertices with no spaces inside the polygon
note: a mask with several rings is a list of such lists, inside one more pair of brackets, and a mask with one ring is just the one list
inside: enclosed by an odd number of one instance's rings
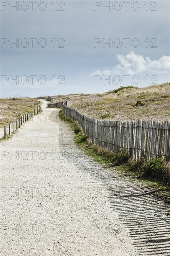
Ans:
{"label": "sunlit pale part of gravel path, excluding the striped fence shadow", "polygon": [[0,255],[138,256],[105,181],[86,172],[80,150],[68,156],[78,148],[58,113],[44,109],[1,144]]}

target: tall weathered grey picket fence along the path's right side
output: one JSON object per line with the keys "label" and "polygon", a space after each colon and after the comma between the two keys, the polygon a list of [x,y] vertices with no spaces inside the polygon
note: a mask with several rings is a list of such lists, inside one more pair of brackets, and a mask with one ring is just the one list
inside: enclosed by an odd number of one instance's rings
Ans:
{"label": "tall weathered grey picket fence along the path's right side", "polygon": [[64,114],[78,121],[92,143],[118,153],[121,148],[132,158],[147,161],[153,156],[170,162],[170,123],[156,121],[100,121],[63,106]]}

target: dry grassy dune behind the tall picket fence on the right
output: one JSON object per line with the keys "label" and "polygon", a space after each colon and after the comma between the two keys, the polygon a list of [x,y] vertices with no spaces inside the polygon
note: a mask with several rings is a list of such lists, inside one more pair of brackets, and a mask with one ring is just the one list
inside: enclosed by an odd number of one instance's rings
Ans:
{"label": "dry grassy dune behind the tall picket fence on the right", "polygon": [[[54,96],[54,102],[65,99],[70,108],[101,120],[136,121],[136,119],[142,119],[170,122],[170,83],[145,88],[122,87],[101,94]],[[139,103],[136,104],[137,102]]]}

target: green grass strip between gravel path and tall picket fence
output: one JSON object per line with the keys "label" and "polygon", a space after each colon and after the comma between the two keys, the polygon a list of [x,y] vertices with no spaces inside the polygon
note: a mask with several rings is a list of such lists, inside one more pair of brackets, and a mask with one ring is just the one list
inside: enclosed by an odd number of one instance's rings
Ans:
{"label": "green grass strip between gravel path and tall picket fence", "polygon": [[71,126],[76,143],[97,162],[105,163],[108,167],[114,167],[114,169],[131,176],[132,179],[140,180],[151,187],[157,187],[159,191],[166,192],[166,195],[170,196],[170,165],[163,160],[152,158],[149,162],[144,159],[136,161],[131,159],[123,149],[116,154],[108,149],[98,147],[84,135],[78,122],[65,117],[63,110],[59,112],[59,117]]}

